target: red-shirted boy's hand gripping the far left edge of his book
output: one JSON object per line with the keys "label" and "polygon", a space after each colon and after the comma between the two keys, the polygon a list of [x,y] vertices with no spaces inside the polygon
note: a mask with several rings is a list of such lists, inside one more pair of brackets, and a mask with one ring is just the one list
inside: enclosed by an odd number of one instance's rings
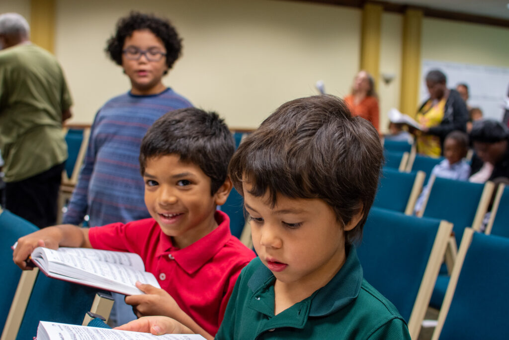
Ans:
{"label": "red-shirted boy's hand gripping the far left edge of his book", "polygon": [[61,239],[62,233],[56,227],[47,227],[23,236],[18,239],[18,244],[12,254],[14,263],[23,270],[32,270],[32,267],[27,266],[27,260],[34,249],[37,247],[58,249]]}

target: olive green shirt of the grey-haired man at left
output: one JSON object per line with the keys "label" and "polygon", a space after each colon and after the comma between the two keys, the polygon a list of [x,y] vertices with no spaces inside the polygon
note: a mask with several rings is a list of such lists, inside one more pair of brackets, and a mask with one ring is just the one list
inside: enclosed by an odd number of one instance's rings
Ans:
{"label": "olive green shirt of the grey-haired man at left", "polygon": [[67,159],[62,112],[71,106],[56,59],[34,44],[0,51],[0,150],[5,181],[37,175]]}

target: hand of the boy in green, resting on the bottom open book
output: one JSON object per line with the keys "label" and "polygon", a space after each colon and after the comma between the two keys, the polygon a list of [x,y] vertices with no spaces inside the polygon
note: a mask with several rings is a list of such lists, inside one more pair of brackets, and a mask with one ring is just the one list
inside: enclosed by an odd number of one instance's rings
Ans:
{"label": "hand of the boy in green, resting on the bottom open book", "polygon": [[133,332],[161,334],[194,334],[189,328],[180,322],[168,317],[143,317],[131,321],[114,329],[129,330]]}

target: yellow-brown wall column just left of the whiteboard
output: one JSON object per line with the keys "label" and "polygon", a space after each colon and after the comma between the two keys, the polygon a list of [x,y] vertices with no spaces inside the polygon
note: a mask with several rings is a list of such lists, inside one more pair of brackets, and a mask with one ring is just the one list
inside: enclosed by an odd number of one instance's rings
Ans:
{"label": "yellow-brown wall column just left of the whiteboard", "polygon": [[401,60],[401,112],[415,116],[420,79],[422,11],[408,9],[403,19],[403,56]]}

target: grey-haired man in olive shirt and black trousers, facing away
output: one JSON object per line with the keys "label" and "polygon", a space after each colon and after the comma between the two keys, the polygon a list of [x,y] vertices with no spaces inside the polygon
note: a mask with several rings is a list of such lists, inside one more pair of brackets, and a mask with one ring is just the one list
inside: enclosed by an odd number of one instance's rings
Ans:
{"label": "grey-haired man in olive shirt and black trousers, facing away", "polygon": [[72,100],[59,63],[29,32],[21,15],[0,15],[0,150],[5,207],[42,228],[56,222]]}

